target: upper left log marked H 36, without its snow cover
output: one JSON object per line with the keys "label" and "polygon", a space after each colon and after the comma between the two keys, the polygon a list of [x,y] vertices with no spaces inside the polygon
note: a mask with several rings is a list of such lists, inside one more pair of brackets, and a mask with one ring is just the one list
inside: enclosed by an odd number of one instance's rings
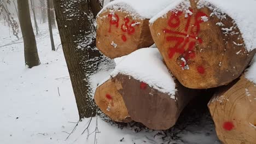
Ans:
{"label": "upper left log marked H 36, without its snow cover", "polygon": [[[111,11],[111,12],[110,12]],[[97,48],[113,59],[154,44],[149,19],[136,19],[125,11],[106,9],[97,16]]]}

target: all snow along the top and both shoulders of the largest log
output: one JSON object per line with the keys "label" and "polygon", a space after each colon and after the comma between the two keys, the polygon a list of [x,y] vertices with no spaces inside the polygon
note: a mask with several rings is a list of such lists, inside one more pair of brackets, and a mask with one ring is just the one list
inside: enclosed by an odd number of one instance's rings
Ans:
{"label": "all snow along the top and both shoulders of the largest log", "polygon": [[[171,1],[170,1],[171,2]],[[214,7],[212,7],[214,6]],[[228,14],[232,19],[234,19],[237,27],[240,29],[243,40],[245,41],[246,49],[252,51],[256,49],[256,1],[254,0],[200,0],[197,2],[197,8],[208,7],[213,10],[212,15],[216,15],[220,20],[226,19]],[[172,3],[156,14],[149,23],[152,24],[155,20],[160,17],[166,17],[169,11],[185,11],[185,14],[192,15],[189,11],[190,2],[187,0],[172,0]],[[202,17],[203,21],[207,21],[207,17]],[[216,25],[224,26],[223,23],[218,22]],[[234,27],[223,28],[226,33],[232,31]]]}

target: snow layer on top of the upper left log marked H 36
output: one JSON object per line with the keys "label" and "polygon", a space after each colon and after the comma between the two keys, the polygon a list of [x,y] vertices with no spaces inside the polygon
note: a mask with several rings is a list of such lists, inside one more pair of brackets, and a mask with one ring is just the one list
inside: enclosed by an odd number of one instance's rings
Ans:
{"label": "snow layer on top of the upper left log marked H 36", "polygon": [[158,14],[162,9],[165,9],[167,5],[170,5],[176,0],[115,0],[108,3],[99,14],[107,9],[114,11],[126,11],[130,13],[135,19],[151,19]]}

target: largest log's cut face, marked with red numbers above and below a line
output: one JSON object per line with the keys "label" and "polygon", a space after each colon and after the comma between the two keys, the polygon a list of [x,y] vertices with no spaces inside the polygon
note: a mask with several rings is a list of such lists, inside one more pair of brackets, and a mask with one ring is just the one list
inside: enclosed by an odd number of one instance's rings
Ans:
{"label": "largest log's cut face, marked with red numbers above and below a line", "polygon": [[255,50],[247,51],[230,16],[219,19],[208,7],[198,9],[196,1],[190,3],[192,15],[168,11],[166,17],[150,23],[155,44],[183,86],[203,89],[226,85],[241,75]]}

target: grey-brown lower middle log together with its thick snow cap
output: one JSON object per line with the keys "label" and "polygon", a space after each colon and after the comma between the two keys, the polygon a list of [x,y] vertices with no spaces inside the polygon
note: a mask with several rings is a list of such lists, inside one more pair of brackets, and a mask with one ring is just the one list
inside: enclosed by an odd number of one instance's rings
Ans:
{"label": "grey-brown lower middle log together with its thick snow cap", "polygon": [[139,49],[125,56],[111,75],[131,119],[150,129],[171,128],[197,94],[173,79],[154,48]]}

